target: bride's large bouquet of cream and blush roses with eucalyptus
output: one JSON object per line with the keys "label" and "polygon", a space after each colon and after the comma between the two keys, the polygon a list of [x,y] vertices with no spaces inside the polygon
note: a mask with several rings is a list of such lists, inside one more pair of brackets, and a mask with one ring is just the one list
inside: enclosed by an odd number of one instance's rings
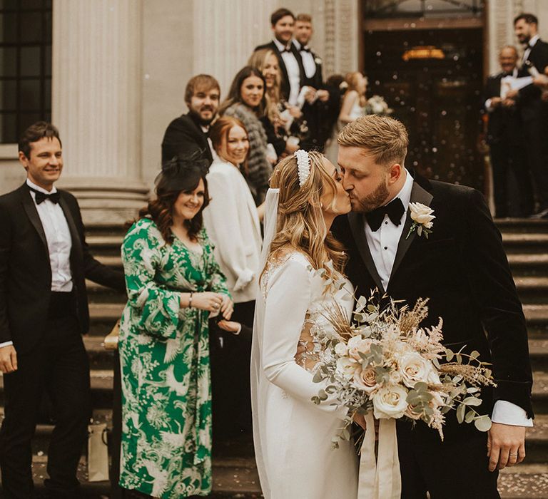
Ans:
{"label": "bride's large bouquet of cream and blush roses with eucalyptus", "polygon": [[336,335],[323,339],[314,381],[324,386],[313,402],[329,398],[348,408],[333,446],[338,447],[339,438],[350,439],[348,427],[355,413],[421,420],[443,439],[445,414],[456,409],[460,423],[473,421],[478,430],[489,430],[489,416],[475,410],[482,403],[480,387],[494,386],[480,354],[445,348],[442,319],[431,328],[419,326],[428,314],[427,299],[419,299],[412,309],[392,301],[380,310],[375,301],[373,294],[370,299],[360,297],[353,321],[340,307],[325,311]]}

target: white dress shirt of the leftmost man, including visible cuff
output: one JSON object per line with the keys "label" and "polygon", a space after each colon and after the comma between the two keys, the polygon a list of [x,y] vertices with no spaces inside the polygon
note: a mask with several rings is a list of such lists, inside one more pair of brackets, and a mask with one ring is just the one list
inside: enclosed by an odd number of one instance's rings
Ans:
{"label": "white dress shirt of the leftmost man, including visible cuff", "polygon": [[[28,178],[26,179],[26,185],[39,192],[44,192],[44,194],[57,192],[55,186],[51,191],[47,191],[31,182]],[[36,205],[36,193],[29,192]],[[49,264],[51,266],[51,291],[71,292],[72,272],[70,257],[72,239],[63,209],[59,206],[59,203],[56,204],[46,199],[39,205],[36,205],[36,211],[40,217],[40,222],[42,222],[46,242],[48,243]],[[13,341],[4,341],[4,343],[0,343],[0,348],[13,344]]]}

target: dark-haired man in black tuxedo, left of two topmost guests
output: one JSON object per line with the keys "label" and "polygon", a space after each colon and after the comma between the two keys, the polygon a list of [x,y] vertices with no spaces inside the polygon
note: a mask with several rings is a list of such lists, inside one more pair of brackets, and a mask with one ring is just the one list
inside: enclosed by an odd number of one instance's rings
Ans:
{"label": "dark-haired man in black tuxedo, left of two topmost guests", "polygon": [[281,93],[285,101],[295,106],[300,88],[305,84],[305,68],[297,47],[293,45],[295,16],[288,9],[278,9],[270,16],[274,38],[255,47],[255,52],[268,48],[276,54],[282,72]]}

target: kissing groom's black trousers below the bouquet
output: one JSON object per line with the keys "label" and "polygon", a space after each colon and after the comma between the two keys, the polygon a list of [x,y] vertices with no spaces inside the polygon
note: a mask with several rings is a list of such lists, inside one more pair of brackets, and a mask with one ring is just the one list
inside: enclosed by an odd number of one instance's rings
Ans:
{"label": "kissing groom's black trousers below the bouquet", "polygon": [[425,499],[427,492],[430,499],[500,498],[498,471],[487,469],[487,433],[463,430],[463,438],[442,442],[423,423],[412,428],[408,421],[397,422],[402,499]]}

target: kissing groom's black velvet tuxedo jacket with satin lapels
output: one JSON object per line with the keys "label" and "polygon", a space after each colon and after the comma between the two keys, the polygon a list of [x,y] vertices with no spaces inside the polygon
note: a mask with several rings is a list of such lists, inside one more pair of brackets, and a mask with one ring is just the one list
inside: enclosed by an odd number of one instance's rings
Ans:
{"label": "kissing groom's black velvet tuxedo jacket with satin lapels", "polygon": [[505,400],[531,417],[532,374],[524,314],[483,195],[470,187],[418,179],[411,202],[434,210],[432,234],[427,239],[415,231],[405,240],[412,224],[407,212],[386,290],[367,246],[363,215],[352,212],[335,220],[333,232],[347,247],[346,274],[357,287],[357,297],[369,297],[377,287],[381,294],[385,291],[411,307],[420,297],[430,298],[430,314],[423,325],[437,324],[442,317],[447,347],[457,351],[466,345],[465,351],[480,351],[481,360],[493,364],[497,388],[492,397],[491,390],[482,390],[480,413],[490,414],[494,401]]}

